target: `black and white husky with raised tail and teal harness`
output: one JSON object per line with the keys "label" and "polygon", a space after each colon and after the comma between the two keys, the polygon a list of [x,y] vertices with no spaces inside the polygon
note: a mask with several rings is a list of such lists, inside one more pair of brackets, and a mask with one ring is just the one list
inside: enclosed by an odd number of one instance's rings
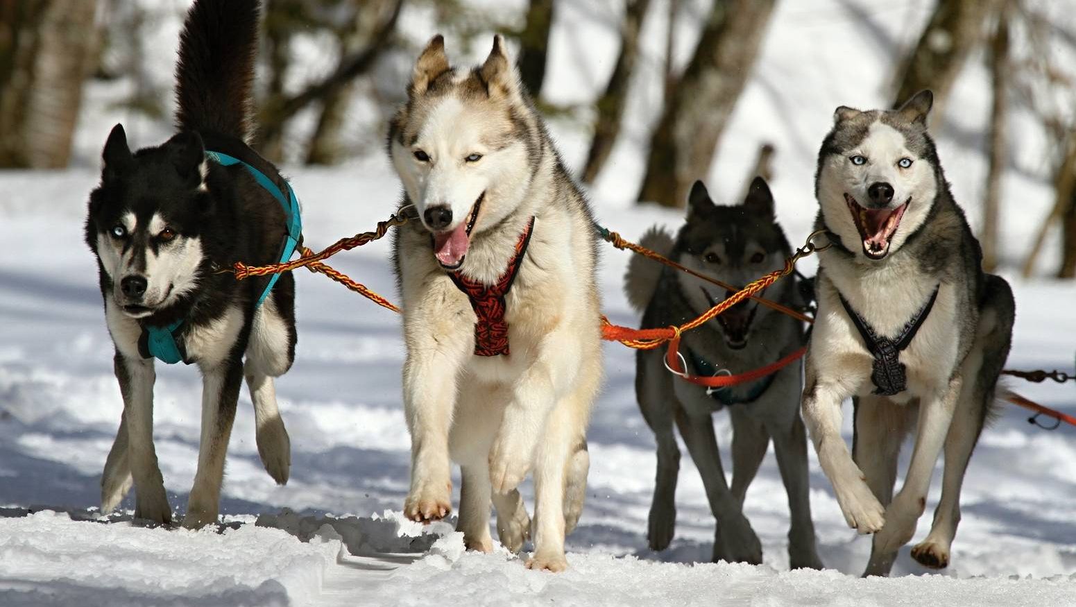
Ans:
{"label": "black and white husky with raised tail and teal harness", "polygon": [[287,213],[242,165],[207,159],[208,144],[278,175],[243,144],[258,14],[256,0],[197,0],[175,74],[180,132],[132,154],[116,125],[104,145],[86,242],[98,259],[124,413],[101,479],[102,512],[133,482],[136,518],[171,521],[153,446],[154,356],[197,364],[202,373],[198,471],[184,526],[216,520],[244,377],[261,461],[277,482],[287,481],[289,442],[272,378],[287,371],[295,354],[294,280],[282,274],[258,305],[268,279],[237,282],[215,273],[237,260],[279,260]]}

